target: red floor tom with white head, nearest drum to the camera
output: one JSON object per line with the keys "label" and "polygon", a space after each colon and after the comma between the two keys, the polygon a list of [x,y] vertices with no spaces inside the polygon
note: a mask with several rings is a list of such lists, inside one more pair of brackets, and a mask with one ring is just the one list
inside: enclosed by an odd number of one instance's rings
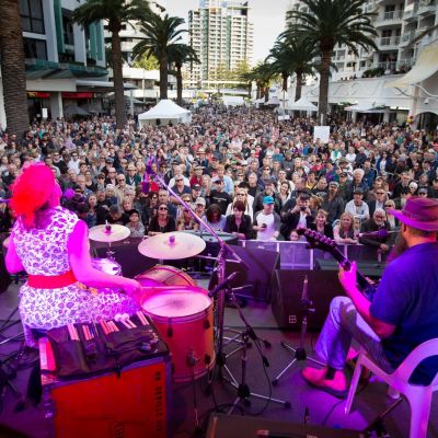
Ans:
{"label": "red floor tom with white head, nearest drum to the camera", "polygon": [[214,366],[212,301],[198,287],[157,288],[140,298],[172,353],[173,379],[187,382]]}

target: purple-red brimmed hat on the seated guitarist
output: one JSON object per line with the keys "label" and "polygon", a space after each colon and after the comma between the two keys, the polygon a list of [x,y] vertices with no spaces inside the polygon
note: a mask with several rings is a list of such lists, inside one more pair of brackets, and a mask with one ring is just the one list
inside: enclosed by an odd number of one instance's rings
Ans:
{"label": "purple-red brimmed hat on the seated guitarist", "polygon": [[438,200],[412,197],[403,210],[388,210],[401,222],[423,231],[438,231]]}

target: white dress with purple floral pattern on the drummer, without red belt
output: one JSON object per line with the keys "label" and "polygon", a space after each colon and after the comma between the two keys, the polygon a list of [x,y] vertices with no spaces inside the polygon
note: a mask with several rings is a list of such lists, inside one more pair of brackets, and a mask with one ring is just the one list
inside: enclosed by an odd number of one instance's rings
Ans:
{"label": "white dress with purple floral pattern on the drummer, without red belt", "polygon": [[[16,254],[31,275],[55,276],[71,269],[67,243],[78,217],[62,208],[53,210],[44,229],[26,230],[20,220],[13,227]],[[20,289],[20,313],[26,344],[36,346],[31,328],[53,328],[67,323],[112,319],[116,313],[134,313],[136,302],[116,289],[91,293],[79,283],[57,289],[39,289],[24,284]]]}

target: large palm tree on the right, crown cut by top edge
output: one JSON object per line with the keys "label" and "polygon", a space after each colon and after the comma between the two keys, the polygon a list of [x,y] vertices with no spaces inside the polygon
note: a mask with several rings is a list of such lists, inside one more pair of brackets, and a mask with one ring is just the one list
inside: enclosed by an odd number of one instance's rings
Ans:
{"label": "large palm tree on the right, crown cut by top edge", "polygon": [[281,36],[309,47],[316,47],[321,56],[319,120],[326,124],[328,107],[328,77],[333,49],[336,44],[346,45],[355,55],[357,47],[378,49],[372,36],[377,32],[371,24],[373,13],[364,12],[364,0],[301,0],[309,12],[289,11],[289,25]]}

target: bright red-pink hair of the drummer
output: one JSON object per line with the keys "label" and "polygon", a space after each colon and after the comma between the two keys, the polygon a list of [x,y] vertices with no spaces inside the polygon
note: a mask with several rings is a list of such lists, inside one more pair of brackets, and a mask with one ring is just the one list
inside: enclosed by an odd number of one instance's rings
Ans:
{"label": "bright red-pink hair of the drummer", "polygon": [[12,186],[11,207],[26,228],[35,227],[35,216],[53,197],[56,187],[54,172],[45,164],[31,164]]}

